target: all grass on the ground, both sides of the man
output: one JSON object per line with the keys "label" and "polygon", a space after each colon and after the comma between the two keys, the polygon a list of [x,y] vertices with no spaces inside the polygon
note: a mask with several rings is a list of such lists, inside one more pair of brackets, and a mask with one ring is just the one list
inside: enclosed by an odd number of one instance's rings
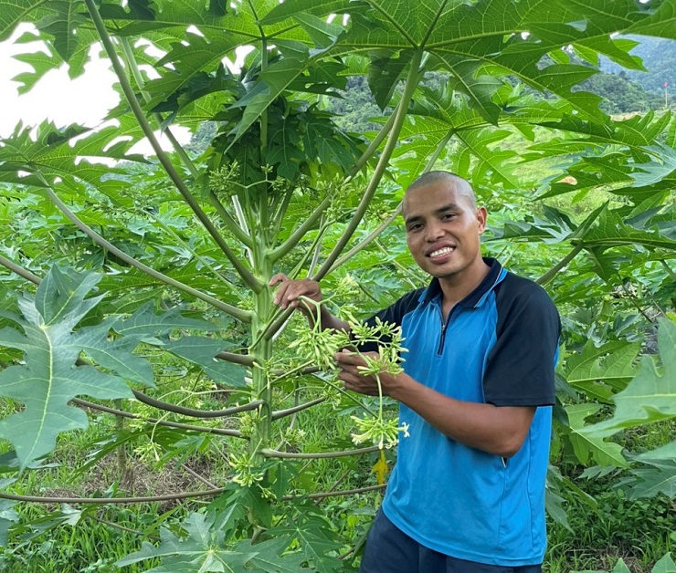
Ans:
{"label": "all grass on the ground, both sides of the man", "polygon": [[[316,395],[308,391],[305,398]],[[20,494],[91,495],[111,487],[121,488],[120,468],[114,453],[100,460],[81,474],[73,468],[81,465],[92,444],[110,434],[112,417],[97,415],[96,423],[85,432],[68,433],[59,438],[58,448],[51,461],[55,467],[38,472],[26,472],[12,485]],[[290,418],[279,424],[279,435],[290,435]],[[350,447],[352,430],[348,414],[336,415],[328,403],[298,414],[291,432],[291,450],[303,452]],[[638,449],[655,447],[672,439],[671,424],[654,424],[633,430],[625,437],[628,444]],[[156,434],[164,440],[162,432]],[[184,436],[185,437],[185,436]],[[140,440],[147,441],[141,435]],[[227,454],[243,452],[246,443],[217,439],[207,443],[201,452],[187,457],[185,464],[197,469],[208,480],[217,484],[227,481]],[[180,464],[173,461],[164,466],[144,464],[131,447],[127,448],[128,464],[133,480],[127,484],[135,495],[159,494],[204,487],[194,476],[185,474]],[[315,492],[331,489],[349,489],[364,484],[375,484],[372,465],[377,454],[357,458],[301,461],[294,464],[297,476],[292,491]],[[391,468],[392,453],[387,453]],[[549,525],[549,548],[544,563],[545,573],[571,571],[610,571],[622,557],[632,573],[648,573],[655,562],[676,545],[676,505],[664,496],[651,499],[628,499],[621,489],[613,489],[610,477],[579,480],[579,468],[562,465],[562,472],[576,481],[586,493],[597,500],[597,510],[567,493],[566,509],[573,532],[555,523]],[[341,537],[345,539],[345,553],[364,536],[371,523],[380,493],[351,497],[332,497],[317,505],[329,516]],[[18,573],[33,571],[115,571],[113,563],[141,547],[143,540],[157,538],[159,527],[177,522],[198,503],[185,505],[132,505],[77,508],[17,505],[21,523],[10,537],[10,546],[0,554],[0,570]],[[283,505],[278,510],[281,511]],[[138,532],[138,533],[135,533]],[[145,570],[133,567],[127,571]]]}

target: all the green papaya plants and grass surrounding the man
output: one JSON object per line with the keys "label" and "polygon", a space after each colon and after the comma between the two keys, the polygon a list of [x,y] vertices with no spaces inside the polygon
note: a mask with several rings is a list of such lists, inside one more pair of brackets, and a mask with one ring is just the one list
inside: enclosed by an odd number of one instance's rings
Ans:
{"label": "all the green papaya plants and grass surrounding the man", "polygon": [[396,215],[440,168],[564,320],[545,570],[676,570],[676,121],[629,53],[673,53],[673,8],[6,2],[0,39],[46,43],[25,89],[94,46],[121,102],[0,141],[3,568],[354,570],[395,405],[268,282],[358,317],[425,284]]}

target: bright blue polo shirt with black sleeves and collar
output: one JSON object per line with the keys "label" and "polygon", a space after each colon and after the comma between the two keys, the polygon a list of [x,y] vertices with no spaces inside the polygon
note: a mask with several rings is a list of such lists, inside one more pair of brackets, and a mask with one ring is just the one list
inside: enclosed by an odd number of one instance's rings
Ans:
{"label": "bright blue polo shirt with black sleeves and collar", "polygon": [[401,404],[399,421],[410,435],[400,436],[383,511],[409,537],[445,555],[534,565],[546,546],[544,484],[560,321],[543,288],[484,260],[489,274],[448,317],[437,279],[376,316],[401,325],[404,370],[414,380],[460,401],[536,406],[531,428],[505,460],[450,439]]}

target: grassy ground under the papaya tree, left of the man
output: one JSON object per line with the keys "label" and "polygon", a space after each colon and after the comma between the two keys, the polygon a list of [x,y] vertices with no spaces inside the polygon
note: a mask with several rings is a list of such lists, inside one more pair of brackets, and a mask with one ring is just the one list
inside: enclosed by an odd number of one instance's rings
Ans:
{"label": "grassy ground under the papaya tree, left of the man", "polygon": [[[171,391],[167,386],[164,391]],[[304,391],[301,401],[317,396],[317,389]],[[290,400],[290,399],[289,399]],[[285,404],[290,406],[291,403]],[[129,408],[143,408],[139,404],[125,404]],[[223,403],[209,403],[207,408],[222,408]],[[144,452],[138,445],[149,443],[150,432],[147,424],[125,422],[123,432],[133,432],[137,426],[145,426],[144,432],[136,435],[134,443],[124,447],[126,468],[121,468],[116,449],[107,455],[95,458],[95,463],[82,469],[88,456],[105,445],[116,431],[115,418],[109,414],[90,412],[90,427],[83,432],[69,432],[58,438],[55,452],[48,458],[46,467],[29,471],[7,488],[8,492],[18,495],[49,496],[87,496],[87,495],[162,495],[185,490],[205,489],[194,475],[185,472],[184,466],[192,468],[208,481],[217,485],[227,484],[230,468],[228,456],[244,453],[248,443],[225,437],[208,440],[199,451],[182,452],[167,459],[164,464],[155,464],[153,458],[139,457]],[[319,452],[326,449],[349,449],[352,422],[349,415],[337,416],[328,402],[298,414],[293,423],[296,432],[289,432],[291,417],[276,424],[278,439],[287,439],[290,451]],[[119,428],[117,429],[119,430]],[[302,430],[298,432],[298,430]],[[168,447],[172,442],[188,436],[171,430],[158,428],[153,438]],[[5,449],[7,444],[5,444]],[[179,464],[177,460],[185,461]],[[294,463],[297,477],[292,488],[297,494],[327,491],[332,488],[350,489],[375,484],[371,466],[376,461],[374,455],[364,455],[356,459],[326,459],[299,461]],[[346,540],[361,537],[370,525],[375,514],[378,494],[359,495],[354,498],[327,498],[317,501],[332,516],[336,531]],[[204,502],[192,501],[182,505],[129,506],[107,505],[93,506],[57,506],[17,504],[19,523],[10,534],[8,547],[0,553],[0,570],[16,573],[40,571],[59,573],[83,571],[117,571],[114,562],[140,549],[142,542],[156,541],[160,526],[175,524],[189,511],[198,510]],[[283,511],[280,505],[280,514]],[[0,514],[0,517],[2,515]],[[345,551],[350,545],[346,541]],[[158,565],[159,561],[155,563]],[[140,571],[150,568],[150,562],[143,562],[139,568],[128,567],[125,571]]]}

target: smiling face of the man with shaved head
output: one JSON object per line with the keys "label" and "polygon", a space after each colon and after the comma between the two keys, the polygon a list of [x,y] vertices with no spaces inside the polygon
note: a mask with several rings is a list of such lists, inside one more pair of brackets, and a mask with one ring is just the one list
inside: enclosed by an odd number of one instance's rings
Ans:
{"label": "smiling face of the man with shaved head", "polygon": [[481,273],[480,235],[486,210],[475,208],[449,182],[407,191],[404,222],[408,249],[418,266],[440,279],[472,280]]}

